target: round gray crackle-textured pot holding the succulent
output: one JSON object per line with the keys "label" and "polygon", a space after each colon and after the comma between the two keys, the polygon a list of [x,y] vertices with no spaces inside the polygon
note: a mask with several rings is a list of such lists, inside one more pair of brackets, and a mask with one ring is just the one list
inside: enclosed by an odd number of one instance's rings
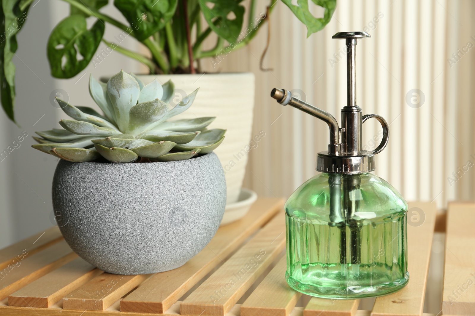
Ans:
{"label": "round gray crackle-textured pot holding the succulent", "polygon": [[69,163],[53,179],[53,208],[69,246],[116,274],[178,268],[218,230],[226,180],[215,153],[165,163]]}

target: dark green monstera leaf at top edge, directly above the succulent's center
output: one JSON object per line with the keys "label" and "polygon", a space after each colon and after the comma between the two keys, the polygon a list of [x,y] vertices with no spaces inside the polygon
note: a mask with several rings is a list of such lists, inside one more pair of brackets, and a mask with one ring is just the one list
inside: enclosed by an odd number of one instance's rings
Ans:
{"label": "dark green monstera leaf at top edge, directly above the succulent's center", "polygon": [[164,27],[175,14],[177,4],[178,0],[114,0],[139,41]]}

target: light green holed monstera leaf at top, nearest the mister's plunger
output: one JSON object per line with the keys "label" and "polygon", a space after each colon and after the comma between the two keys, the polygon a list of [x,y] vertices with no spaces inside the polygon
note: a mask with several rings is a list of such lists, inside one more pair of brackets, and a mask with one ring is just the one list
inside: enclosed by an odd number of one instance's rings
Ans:
{"label": "light green holed monstera leaf at top, nearest the mister's plunger", "polygon": [[295,16],[307,27],[307,37],[318,32],[325,27],[333,16],[336,8],[336,0],[312,0],[314,4],[323,7],[325,13],[323,18],[315,18],[308,8],[308,0],[297,0],[297,4],[293,4],[295,0],[282,0],[289,9],[294,12]]}

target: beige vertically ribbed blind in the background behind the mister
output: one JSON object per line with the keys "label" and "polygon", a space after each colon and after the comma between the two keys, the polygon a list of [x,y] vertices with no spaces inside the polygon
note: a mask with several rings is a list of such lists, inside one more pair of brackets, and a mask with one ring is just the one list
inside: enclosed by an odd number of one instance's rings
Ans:
{"label": "beige vertically ribbed blind in the background behind the mister", "polygon": [[[258,12],[265,12],[265,4],[259,1]],[[322,8],[313,9],[323,16]],[[253,135],[262,130],[265,136],[249,152],[245,186],[286,198],[317,174],[315,155],[327,148],[328,128],[277,104],[269,93],[274,87],[292,90],[339,119],[346,104],[346,55],[344,41],[331,37],[364,30],[371,38],[357,45],[357,102],[363,114],[390,123],[390,143],[376,156],[375,173],[407,200],[434,200],[439,207],[473,200],[474,13],[470,0],[339,0],[328,26],[305,38],[305,27],[278,2],[262,64],[267,25],[215,68],[203,61],[205,71],[256,75]],[[365,149],[380,140],[379,123],[365,122]]]}

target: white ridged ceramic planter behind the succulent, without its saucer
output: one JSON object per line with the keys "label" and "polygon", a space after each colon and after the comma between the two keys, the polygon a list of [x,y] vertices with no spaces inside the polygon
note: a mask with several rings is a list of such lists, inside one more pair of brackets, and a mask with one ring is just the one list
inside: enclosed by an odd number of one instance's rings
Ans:
{"label": "white ridged ceramic planter behind the succulent, without its saucer", "polygon": [[139,75],[145,84],[157,78],[161,84],[173,81],[175,102],[199,88],[193,105],[173,119],[216,117],[209,128],[225,128],[226,138],[214,152],[226,174],[227,203],[237,201],[246,172],[247,151],[252,131],[254,109],[254,74],[172,74]]}

